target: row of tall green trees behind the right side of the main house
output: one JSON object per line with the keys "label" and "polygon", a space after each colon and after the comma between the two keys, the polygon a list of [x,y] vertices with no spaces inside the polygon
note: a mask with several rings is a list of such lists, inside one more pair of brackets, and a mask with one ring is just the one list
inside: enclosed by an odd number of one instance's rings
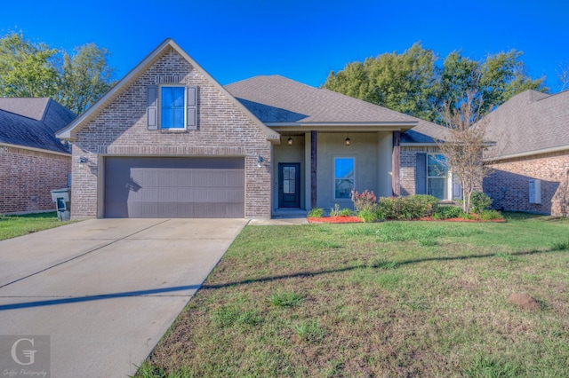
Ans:
{"label": "row of tall green trees behind the right side of the main house", "polygon": [[[474,60],[452,51],[441,63],[433,51],[414,43],[401,54],[384,53],[363,63],[349,63],[341,71],[331,72],[324,86],[443,124],[444,105],[456,105],[458,112],[461,102],[468,100],[466,93],[476,94],[471,104],[475,112],[484,115],[522,91],[548,91],[545,78],[527,75],[522,55],[511,50]],[[451,113],[454,110],[449,109]]]}

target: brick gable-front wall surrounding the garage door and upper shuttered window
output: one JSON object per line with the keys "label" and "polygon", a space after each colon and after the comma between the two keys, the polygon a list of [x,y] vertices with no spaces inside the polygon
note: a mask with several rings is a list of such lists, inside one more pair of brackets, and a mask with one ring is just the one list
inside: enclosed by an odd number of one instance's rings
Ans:
{"label": "brick gable-front wall surrounding the garage door and upper shuttered window", "polygon": [[[162,76],[198,87],[198,130],[147,130],[147,87]],[[270,217],[271,147],[266,135],[241,110],[171,50],[157,60],[77,134],[73,146],[74,218],[97,217],[100,154],[156,156],[244,156],[245,217]],[[257,156],[265,159],[257,167]],[[80,156],[89,159],[80,169]]]}

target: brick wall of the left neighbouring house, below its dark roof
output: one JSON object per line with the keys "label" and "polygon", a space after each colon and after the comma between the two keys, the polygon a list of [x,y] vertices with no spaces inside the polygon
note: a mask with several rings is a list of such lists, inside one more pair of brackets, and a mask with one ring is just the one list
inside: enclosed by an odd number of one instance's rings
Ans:
{"label": "brick wall of the left neighbouring house, below its dark roof", "polygon": [[55,210],[53,189],[68,185],[71,156],[0,147],[0,214]]}

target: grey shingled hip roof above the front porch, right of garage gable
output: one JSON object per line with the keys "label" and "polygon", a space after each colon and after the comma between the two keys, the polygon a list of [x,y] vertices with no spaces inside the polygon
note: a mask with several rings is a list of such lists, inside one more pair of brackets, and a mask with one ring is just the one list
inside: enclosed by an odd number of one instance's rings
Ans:
{"label": "grey shingled hip roof above the front porch, right of garage gable", "polygon": [[255,76],[225,88],[269,126],[385,123],[409,129],[417,122],[416,118],[383,106],[310,87],[279,75]]}

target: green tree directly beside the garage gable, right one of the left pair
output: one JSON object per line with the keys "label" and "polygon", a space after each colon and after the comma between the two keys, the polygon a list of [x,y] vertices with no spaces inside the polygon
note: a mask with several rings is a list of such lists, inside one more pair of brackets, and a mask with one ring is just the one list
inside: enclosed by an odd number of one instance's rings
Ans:
{"label": "green tree directly beside the garage gable, right one of the left pair", "polygon": [[81,114],[113,85],[114,69],[108,66],[108,50],[94,43],[63,53],[57,99],[61,105]]}

